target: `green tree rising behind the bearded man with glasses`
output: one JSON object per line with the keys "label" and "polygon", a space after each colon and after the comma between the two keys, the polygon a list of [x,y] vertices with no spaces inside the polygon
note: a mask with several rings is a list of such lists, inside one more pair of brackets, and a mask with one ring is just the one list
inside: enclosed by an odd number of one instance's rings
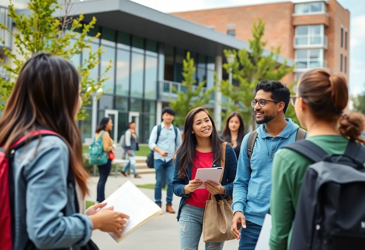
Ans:
{"label": "green tree rising behind the bearded man with glasses", "polygon": [[253,39],[249,39],[250,51],[245,48],[236,50],[224,50],[226,58],[234,54],[233,63],[223,64],[227,73],[232,72],[232,78],[237,84],[230,84],[228,80],[223,80],[221,91],[230,101],[223,103],[222,106],[227,108],[225,117],[232,111],[239,111],[245,121],[251,121],[253,129],[255,126],[255,117],[251,108],[251,100],[254,98],[255,85],[264,79],[280,80],[288,73],[292,72],[294,66],[287,67],[287,60],[283,64],[277,63],[280,55],[280,47],[276,50],[271,49],[268,55],[264,54],[264,47],[267,41],[262,41],[265,31],[265,23],[259,19],[258,24],[254,22],[251,29]]}

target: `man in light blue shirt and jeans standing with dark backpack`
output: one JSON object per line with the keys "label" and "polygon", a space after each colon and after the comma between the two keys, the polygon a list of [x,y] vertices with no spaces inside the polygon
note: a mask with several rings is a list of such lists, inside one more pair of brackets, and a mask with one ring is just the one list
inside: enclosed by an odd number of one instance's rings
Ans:
{"label": "man in light blue shirt and jeans standing with dark backpack", "polygon": [[[173,156],[181,144],[181,133],[177,127],[172,125],[175,111],[170,107],[162,110],[161,125],[152,129],[148,146],[154,151],[154,168],[156,171],[155,202],[161,207],[162,184],[164,183],[164,172],[166,171],[167,198],[166,212],[175,213],[172,209],[172,180],[174,177]],[[160,135],[158,136],[158,131]],[[158,140],[157,140],[158,137]]]}

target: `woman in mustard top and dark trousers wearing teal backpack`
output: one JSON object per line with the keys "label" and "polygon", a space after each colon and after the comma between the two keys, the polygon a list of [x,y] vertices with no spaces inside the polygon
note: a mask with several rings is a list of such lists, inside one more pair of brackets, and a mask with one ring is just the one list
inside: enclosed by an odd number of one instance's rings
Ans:
{"label": "woman in mustard top and dark trousers wearing teal backpack", "polygon": [[[114,150],[113,140],[110,137],[110,132],[113,129],[113,122],[110,117],[103,117],[96,127],[95,140],[101,139],[103,141],[103,149],[105,152],[111,152]],[[105,200],[105,183],[107,183],[108,176],[112,169],[112,161],[109,159],[107,163],[97,166],[99,169],[99,181],[96,188],[96,202],[103,202]]]}

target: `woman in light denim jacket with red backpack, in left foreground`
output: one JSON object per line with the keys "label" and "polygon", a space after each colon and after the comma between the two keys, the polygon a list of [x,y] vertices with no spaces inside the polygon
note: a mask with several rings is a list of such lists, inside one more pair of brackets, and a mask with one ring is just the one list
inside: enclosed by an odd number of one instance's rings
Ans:
{"label": "woman in light denim jacket with red backpack, in left foreground", "polygon": [[[112,208],[96,213],[105,203],[82,211],[89,175],[82,167],[75,122],[80,92],[76,68],[50,54],[30,58],[16,79],[0,120],[0,145],[12,159],[12,249],[78,250],[89,242],[93,229],[120,235],[125,227],[123,218],[128,216]],[[41,129],[57,135],[36,135]],[[22,136],[28,138],[26,145],[12,149]],[[3,202],[8,201],[0,201],[2,209]]]}

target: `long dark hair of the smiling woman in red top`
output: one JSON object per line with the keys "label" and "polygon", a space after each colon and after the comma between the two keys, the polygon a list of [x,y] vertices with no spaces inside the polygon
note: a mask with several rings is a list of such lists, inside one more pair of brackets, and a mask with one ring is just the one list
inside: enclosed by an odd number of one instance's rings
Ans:
{"label": "long dark hair of the smiling woman in red top", "polygon": [[181,143],[181,146],[179,147],[177,152],[178,155],[177,161],[179,168],[178,176],[181,179],[186,176],[186,170],[188,166],[191,166],[193,164],[193,158],[195,157],[195,148],[197,143],[195,134],[192,133],[194,115],[201,111],[207,113],[210,121],[212,122],[212,134],[210,136],[210,139],[212,142],[212,151],[214,160],[216,162],[220,162],[222,160],[222,149],[223,149],[222,144],[224,143],[224,141],[220,139],[217,130],[215,128],[214,121],[210,116],[208,110],[205,107],[196,107],[195,109],[190,110],[185,118],[183,142]]}

